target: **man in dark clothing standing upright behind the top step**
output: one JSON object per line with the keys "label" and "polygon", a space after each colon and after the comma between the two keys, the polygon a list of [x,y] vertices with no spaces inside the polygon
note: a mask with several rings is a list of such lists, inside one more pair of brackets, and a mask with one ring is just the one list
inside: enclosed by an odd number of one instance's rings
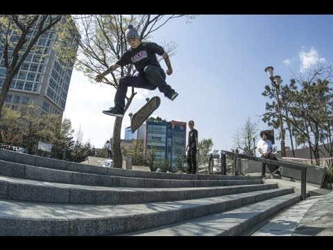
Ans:
{"label": "man in dark clothing standing upright behind the top step", "polygon": [[194,122],[189,121],[189,138],[187,140],[187,174],[196,174],[196,151],[199,149],[198,131],[194,128]]}

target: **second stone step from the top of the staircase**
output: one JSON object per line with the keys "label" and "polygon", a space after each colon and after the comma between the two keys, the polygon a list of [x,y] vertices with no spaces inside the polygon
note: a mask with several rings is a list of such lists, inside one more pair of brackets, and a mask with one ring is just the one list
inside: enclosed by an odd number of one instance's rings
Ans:
{"label": "second stone step from the top of the staircase", "polygon": [[[83,166],[84,167],[84,166]],[[91,166],[89,166],[91,167]],[[96,168],[96,167],[93,167]],[[110,169],[102,167],[103,169]],[[125,170],[125,169],[123,169]],[[131,170],[126,170],[131,172]],[[148,172],[146,172],[148,173]],[[160,173],[155,173],[160,174]],[[209,187],[219,185],[253,185],[262,183],[260,178],[190,178],[175,179],[171,174],[164,174],[164,178],[141,178],[128,176],[112,176],[107,173],[92,174],[87,172],[75,172],[74,170],[60,170],[45,167],[24,165],[21,163],[9,163],[0,160],[0,176],[13,176],[28,178],[39,181],[51,181],[57,183],[69,183],[79,185],[100,185],[127,188],[186,188],[186,187]],[[166,178],[166,177],[170,178]],[[189,174],[187,176],[197,176]],[[230,176],[231,177],[231,176]]]}

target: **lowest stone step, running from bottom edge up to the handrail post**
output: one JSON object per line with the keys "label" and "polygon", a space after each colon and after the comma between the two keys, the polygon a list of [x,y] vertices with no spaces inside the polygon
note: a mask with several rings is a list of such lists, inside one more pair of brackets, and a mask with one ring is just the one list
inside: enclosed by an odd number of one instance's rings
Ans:
{"label": "lowest stone step, running from bottom edge up to the handrail post", "polygon": [[237,236],[300,201],[299,194],[286,194],[234,210],[215,213],[186,222],[121,235],[136,236]]}

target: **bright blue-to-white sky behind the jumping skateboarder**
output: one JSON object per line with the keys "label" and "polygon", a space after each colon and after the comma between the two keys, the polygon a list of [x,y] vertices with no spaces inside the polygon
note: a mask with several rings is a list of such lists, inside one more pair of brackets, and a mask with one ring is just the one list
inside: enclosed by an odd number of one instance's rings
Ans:
{"label": "bright blue-to-white sky behind the jumping skateboarder", "polygon": [[[177,44],[170,58],[173,74],[166,81],[179,95],[171,101],[158,89],[135,89],[137,95],[123,117],[121,138],[130,126],[128,113],[135,113],[146,97],[156,95],[161,105],[153,116],[194,120],[198,140],[211,138],[212,149],[233,149],[233,137],[248,118],[259,123],[259,131],[273,129],[262,122],[266,101],[270,101],[262,92],[271,84],[264,69],[274,67],[274,75],[288,83],[311,65],[331,63],[332,25],[333,15],[199,15],[191,24],[185,19],[171,20],[153,33],[151,42]],[[160,64],[167,69],[164,60]],[[89,140],[101,148],[112,136],[115,117],[102,110],[114,106],[115,92],[74,70],[63,118],[71,120],[76,132],[80,128],[83,142]],[[287,136],[285,142],[289,146]],[[275,146],[280,150],[279,140]]]}

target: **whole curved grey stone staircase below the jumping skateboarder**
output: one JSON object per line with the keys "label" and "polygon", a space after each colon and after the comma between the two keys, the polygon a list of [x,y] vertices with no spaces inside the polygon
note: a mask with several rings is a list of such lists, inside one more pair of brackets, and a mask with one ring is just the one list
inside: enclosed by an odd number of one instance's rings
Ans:
{"label": "whole curved grey stone staircase below the jumping skateboarder", "polygon": [[259,176],[140,172],[0,149],[0,235],[242,235],[299,200]]}

